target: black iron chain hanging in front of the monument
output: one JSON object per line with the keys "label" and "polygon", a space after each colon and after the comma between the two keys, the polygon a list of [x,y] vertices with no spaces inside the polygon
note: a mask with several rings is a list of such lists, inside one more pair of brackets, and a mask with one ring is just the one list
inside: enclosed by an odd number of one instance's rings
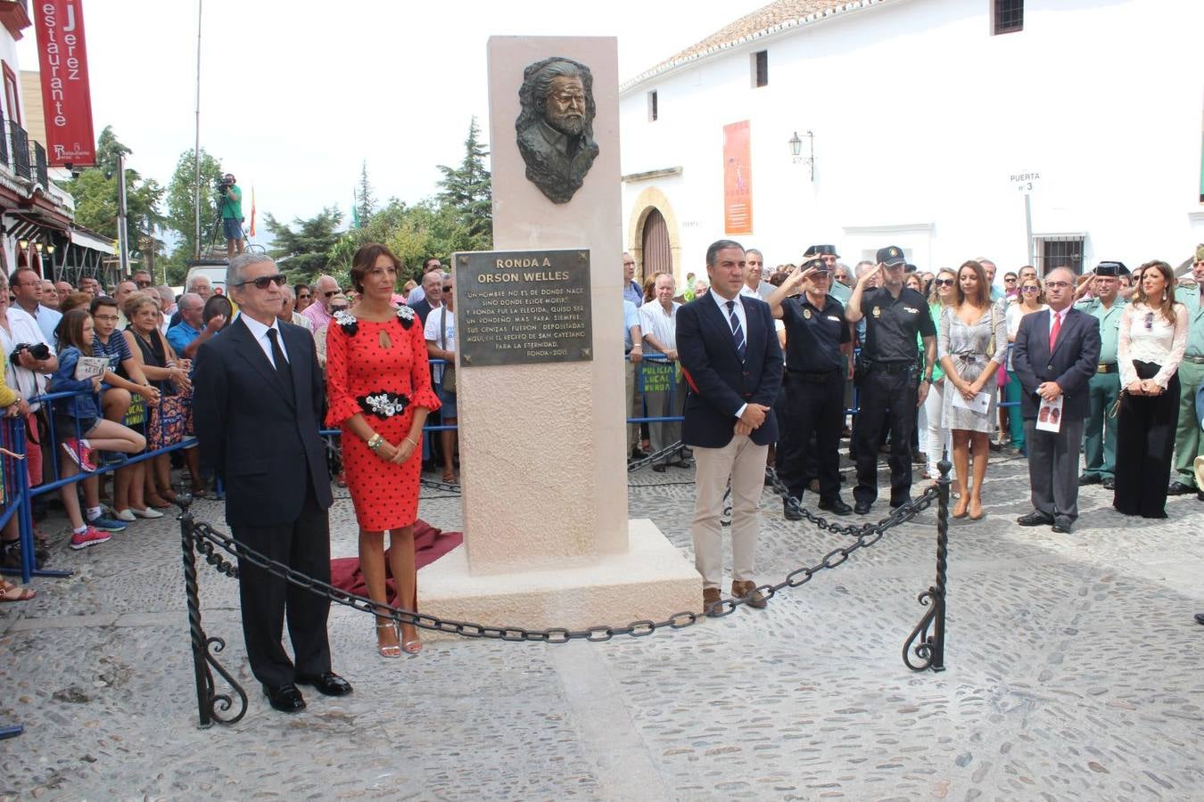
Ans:
{"label": "black iron chain hanging in front of the monument", "polygon": [[[775,487],[784,489],[784,486],[781,486],[781,482],[778,481],[777,475],[773,475],[772,479],[775,482]],[[919,498],[897,507],[889,517],[879,521],[877,524],[867,523],[862,527],[836,528],[827,524],[822,518],[810,515],[805,507],[798,505],[797,499],[790,499],[787,497],[787,501],[792,501],[796,506],[798,506],[799,511],[803,512],[808,519],[815,522],[816,525],[820,525],[820,528],[830,531],[852,529],[855,530],[856,541],[849,543],[848,546],[833,548],[815,565],[804,565],[795,569],[777,584],[762,584],[756,589],[760,590],[766,601],[768,601],[784,588],[802,587],[803,584],[810,582],[811,578],[820,571],[842,565],[858,548],[873,546],[881,540],[883,535],[886,534],[889,529],[910,521],[920,512],[928,509],[928,506],[931,506],[937,499],[937,488],[931,487]],[[187,515],[188,513],[185,512],[185,516]],[[185,525],[188,522],[185,522]],[[748,595],[740,599],[721,600],[715,607],[712,608],[710,612],[679,612],[661,622],[642,619],[631,622],[626,626],[590,626],[589,629],[583,630],[569,630],[565,628],[527,630],[521,626],[485,626],[472,622],[452,620],[438,618],[436,616],[427,616],[412,610],[379,604],[365,596],[348,593],[347,590],[336,588],[327,582],[301,574],[300,571],[296,571],[278,560],[265,557],[264,554],[248,548],[246,545],[236,542],[234,537],[217,531],[209,524],[203,522],[193,523],[191,530],[197,549],[206,556],[206,560],[216,565],[219,571],[226,574],[228,576],[234,576],[237,569],[222,560],[219,556],[216,556],[213,553],[214,546],[220,547],[230,554],[237,556],[240,560],[246,560],[247,563],[264,569],[265,571],[268,571],[270,574],[278,576],[291,584],[303,588],[311,593],[324,595],[330,601],[336,604],[346,605],[376,616],[388,617],[400,624],[412,624],[419,629],[450,632],[462,637],[484,637],[501,641],[536,641],[543,643],[567,643],[568,641],[602,642],[609,641],[616,635],[644,637],[647,635],[651,635],[659,629],[685,629],[686,626],[697,623],[701,618],[722,618],[724,616],[730,616],[737,607],[748,604],[751,598],[751,592],[749,592]],[[224,565],[222,563],[224,563]]]}

